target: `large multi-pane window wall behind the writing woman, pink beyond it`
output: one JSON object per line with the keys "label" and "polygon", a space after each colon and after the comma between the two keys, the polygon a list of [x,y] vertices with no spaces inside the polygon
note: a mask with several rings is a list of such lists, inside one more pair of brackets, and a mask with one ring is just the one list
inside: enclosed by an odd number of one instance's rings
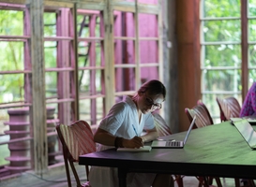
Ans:
{"label": "large multi-pane window wall behind the writing woman, pink beyond it", "polygon": [[[121,95],[133,94],[143,81],[162,76],[161,7],[157,0],[56,2],[45,1],[42,25],[36,21],[43,30],[43,36],[38,36],[42,42],[38,39],[36,43],[43,46],[40,55],[44,61],[34,62],[31,43],[35,34],[30,28],[35,22],[30,14],[35,9],[20,1],[0,3],[0,150],[5,152],[0,177],[4,168],[9,174],[37,168],[41,172],[45,161],[47,165],[62,162],[54,131],[57,122],[83,119],[95,129]],[[43,80],[35,73],[35,61],[42,68]],[[32,82],[38,79],[45,88],[35,88]],[[33,97],[35,89],[45,94]],[[35,100],[45,101],[45,126],[43,122],[33,124],[35,113],[43,116],[40,108],[33,106]],[[22,110],[22,129],[11,127],[8,110]],[[46,130],[48,158],[32,154],[32,141],[43,151],[43,141],[38,139],[44,135],[37,131],[37,125]],[[23,136],[10,135],[16,130]],[[9,147],[18,144],[24,146],[24,160],[17,164]]]}

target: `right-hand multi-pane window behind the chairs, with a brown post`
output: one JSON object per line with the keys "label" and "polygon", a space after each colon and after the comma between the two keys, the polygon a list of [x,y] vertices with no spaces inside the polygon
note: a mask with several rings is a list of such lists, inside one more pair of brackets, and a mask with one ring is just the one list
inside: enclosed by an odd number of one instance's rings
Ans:
{"label": "right-hand multi-pane window behind the chairs, with a brown post", "polygon": [[255,6],[253,0],[201,0],[202,95],[216,122],[216,97],[234,96],[242,105],[242,98],[256,80]]}

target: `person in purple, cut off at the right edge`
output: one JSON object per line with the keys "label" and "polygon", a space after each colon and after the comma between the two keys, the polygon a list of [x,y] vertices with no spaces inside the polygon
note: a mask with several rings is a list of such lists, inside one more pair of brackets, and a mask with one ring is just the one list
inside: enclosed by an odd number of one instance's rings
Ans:
{"label": "person in purple, cut off at the right edge", "polygon": [[240,117],[256,115],[256,82],[248,90],[248,94],[240,111]]}

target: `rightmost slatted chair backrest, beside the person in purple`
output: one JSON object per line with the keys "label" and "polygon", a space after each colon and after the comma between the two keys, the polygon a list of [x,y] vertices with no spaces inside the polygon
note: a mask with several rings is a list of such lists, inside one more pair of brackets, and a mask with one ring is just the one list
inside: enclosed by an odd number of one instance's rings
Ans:
{"label": "rightmost slatted chair backrest, beside the person in purple", "polygon": [[216,100],[220,110],[221,122],[229,121],[231,118],[239,117],[241,107],[236,98],[233,96],[227,98],[217,97]]}

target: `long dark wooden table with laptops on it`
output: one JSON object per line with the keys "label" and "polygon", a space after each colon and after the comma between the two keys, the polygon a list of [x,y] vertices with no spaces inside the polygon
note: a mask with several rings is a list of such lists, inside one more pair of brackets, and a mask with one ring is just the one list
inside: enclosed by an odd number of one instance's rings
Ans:
{"label": "long dark wooden table with laptops on it", "polygon": [[[166,138],[182,140],[185,135],[182,132]],[[231,122],[192,130],[184,149],[150,152],[111,149],[82,155],[79,165],[117,167],[121,187],[126,187],[128,172],[256,179],[256,151],[248,147]]]}

